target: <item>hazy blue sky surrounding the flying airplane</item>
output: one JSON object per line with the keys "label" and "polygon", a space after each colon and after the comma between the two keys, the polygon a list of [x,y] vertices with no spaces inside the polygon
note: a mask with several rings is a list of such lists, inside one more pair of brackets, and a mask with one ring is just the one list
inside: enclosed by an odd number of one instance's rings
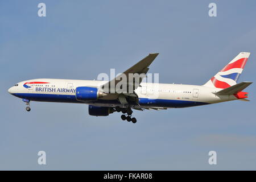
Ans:
{"label": "hazy blue sky surrounding the flying airplane", "polygon": [[[39,18],[38,3],[47,16]],[[208,5],[217,4],[217,17]],[[88,106],[24,103],[7,93],[32,78],[93,80],[159,52],[159,81],[202,85],[239,52],[239,81],[255,81],[255,1],[1,1],[0,169],[256,169],[251,102],[92,117]],[[46,151],[47,165],[37,153]],[[217,152],[217,165],[208,152]]]}

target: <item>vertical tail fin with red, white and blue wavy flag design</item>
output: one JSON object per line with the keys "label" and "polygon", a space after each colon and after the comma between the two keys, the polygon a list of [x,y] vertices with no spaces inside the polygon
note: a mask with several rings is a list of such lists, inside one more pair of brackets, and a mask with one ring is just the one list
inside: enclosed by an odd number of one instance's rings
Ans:
{"label": "vertical tail fin with red, white and blue wavy flag design", "polygon": [[220,72],[210,78],[204,86],[225,89],[236,85],[249,56],[250,52],[240,52]]}

